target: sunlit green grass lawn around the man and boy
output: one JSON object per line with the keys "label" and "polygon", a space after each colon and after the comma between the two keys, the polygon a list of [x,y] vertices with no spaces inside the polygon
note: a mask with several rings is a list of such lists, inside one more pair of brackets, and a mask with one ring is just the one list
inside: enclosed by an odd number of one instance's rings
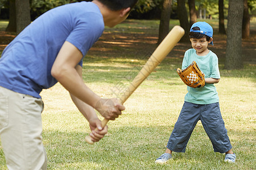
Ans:
{"label": "sunlit green grass lawn around the man and boy", "polygon": [[[105,33],[133,32],[154,37],[158,33],[155,32],[157,24],[154,20],[128,20],[116,28],[107,28]],[[111,36],[116,39],[115,35]],[[101,97],[117,97],[120,87],[128,86],[146,63],[148,53],[145,50],[135,53],[134,46],[104,47],[101,46],[103,41],[106,43],[105,36],[85,57],[83,78]],[[152,47],[151,51],[156,47],[150,41],[139,43],[147,49]],[[180,46],[182,44],[174,51],[179,52]],[[224,154],[213,152],[200,121],[185,154],[174,152],[174,159],[167,164],[154,163],[165,150],[187,93],[187,87],[175,71],[181,67],[181,62],[182,57],[173,57],[171,52],[125,102],[123,114],[109,122],[105,138],[94,145],[85,142],[85,136],[90,133],[88,122],[69,99],[68,92],[59,83],[43,90],[43,143],[48,169],[255,169],[255,63],[230,71],[222,69],[222,60],[221,80],[216,87],[222,117],[237,154],[236,163],[225,163]],[[7,169],[1,145],[0,169]]]}

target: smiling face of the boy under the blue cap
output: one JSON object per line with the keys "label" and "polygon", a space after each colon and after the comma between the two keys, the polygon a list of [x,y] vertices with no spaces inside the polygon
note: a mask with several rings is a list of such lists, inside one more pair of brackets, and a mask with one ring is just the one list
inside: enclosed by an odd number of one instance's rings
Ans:
{"label": "smiling face of the boy under the blue cap", "polygon": [[195,38],[190,39],[192,48],[196,50],[196,54],[199,56],[205,56],[209,53],[209,50],[207,47],[208,47],[208,44],[212,42],[212,40],[213,39],[210,38],[210,40],[207,41],[206,37],[203,37],[201,39],[195,39]]}

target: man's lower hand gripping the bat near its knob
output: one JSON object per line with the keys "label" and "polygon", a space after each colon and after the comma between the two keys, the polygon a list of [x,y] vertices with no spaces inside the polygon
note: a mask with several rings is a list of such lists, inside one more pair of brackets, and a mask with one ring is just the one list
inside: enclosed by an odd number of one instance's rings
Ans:
{"label": "man's lower hand gripping the bat near its knob", "polygon": [[101,121],[98,118],[93,118],[89,120],[89,124],[90,130],[92,130],[92,133],[90,133],[89,135],[92,138],[93,142],[100,141],[100,139],[102,139],[105,136],[105,134],[108,133],[108,126],[102,128]]}

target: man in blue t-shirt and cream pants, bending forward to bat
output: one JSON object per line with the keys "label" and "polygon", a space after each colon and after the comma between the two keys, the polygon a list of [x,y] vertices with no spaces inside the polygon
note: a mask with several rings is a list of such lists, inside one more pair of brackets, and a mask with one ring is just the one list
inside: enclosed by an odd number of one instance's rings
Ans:
{"label": "man in blue t-shirt and cream pants, bending forward to bat", "polygon": [[[101,99],[82,79],[82,58],[104,27],[127,18],[138,0],[94,0],[53,8],[5,48],[0,59],[0,137],[9,169],[47,169],[42,140],[42,89],[60,82],[88,120],[93,142],[107,133],[94,109],[109,120],[125,109]],[[95,129],[98,130],[95,130]]]}

